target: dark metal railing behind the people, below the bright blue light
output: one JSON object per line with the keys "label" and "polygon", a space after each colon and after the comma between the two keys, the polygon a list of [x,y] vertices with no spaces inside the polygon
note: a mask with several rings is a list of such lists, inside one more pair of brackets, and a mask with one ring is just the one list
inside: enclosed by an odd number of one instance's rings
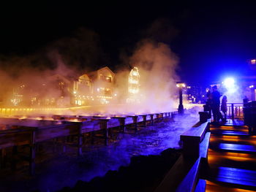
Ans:
{"label": "dark metal railing behind the people, below the bright blue light", "polygon": [[227,118],[244,118],[243,103],[227,103]]}

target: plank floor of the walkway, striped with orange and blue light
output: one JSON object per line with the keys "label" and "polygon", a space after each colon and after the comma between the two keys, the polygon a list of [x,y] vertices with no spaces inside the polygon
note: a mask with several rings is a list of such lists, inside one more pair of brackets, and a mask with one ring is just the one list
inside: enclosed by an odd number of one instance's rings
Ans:
{"label": "plank floor of the walkway, striped with orange and blue light", "polygon": [[242,120],[210,131],[206,191],[256,191],[256,137]]}

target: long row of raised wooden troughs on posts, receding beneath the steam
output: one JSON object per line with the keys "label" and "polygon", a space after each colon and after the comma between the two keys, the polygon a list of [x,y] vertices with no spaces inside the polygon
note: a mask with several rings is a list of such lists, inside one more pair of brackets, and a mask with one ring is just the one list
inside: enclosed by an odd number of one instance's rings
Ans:
{"label": "long row of raised wooden troughs on posts, receding beneath the steam", "polygon": [[[34,174],[36,145],[49,139],[59,137],[78,137],[75,140],[78,147],[78,155],[82,153],[83,137],[86,133],[94,134],[103,131],[103,138],[107,145],[111,128],[122,127],[124,131],[128,126],[138,126],[171,117],[171,112],[159,112],[154,114],[129,115],[118,117],[54,115],[54,120],[35,120],[18,118],[0,118],[0,166],[2,157],[5,156],[5,148],[29,145],[30,173]],[[65,143],[64,143],[65,145]]]}

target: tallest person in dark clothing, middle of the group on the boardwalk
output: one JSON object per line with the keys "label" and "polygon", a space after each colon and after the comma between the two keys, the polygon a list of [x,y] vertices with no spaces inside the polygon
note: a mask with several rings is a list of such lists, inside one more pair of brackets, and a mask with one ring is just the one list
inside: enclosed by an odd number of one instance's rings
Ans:
{"label": "tallest person in dark clothing, middle of the group on the boardwalk", "polygon": [[222,113],[219,111],[219,106],[220,106],[220,100],[219,98],[222,96],[217,88],[217,85],[214,85],[212,87],[212,113],[214,115],[214,123],[219,123],[219,119],[222,119],[222,122],[225,122],[224,118],[222,117]]}

